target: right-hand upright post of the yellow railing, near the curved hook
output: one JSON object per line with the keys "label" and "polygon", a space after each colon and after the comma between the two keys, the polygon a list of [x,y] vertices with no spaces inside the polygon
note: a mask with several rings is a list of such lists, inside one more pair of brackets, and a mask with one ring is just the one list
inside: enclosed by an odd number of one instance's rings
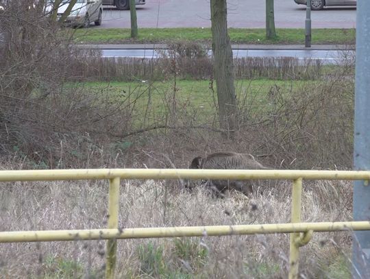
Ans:
{"label": "right-hand upright post of the yellow railing, near the curved hook", "polygon": [[[291,223],[299,223],[301,221],[301,197],[302,197],[302,179],[298,178],[293,181],[292,191],[292,215]],[[299,272],[299,245],[296,239],[300,236],[299,232],[291,233],[291,249],[289,258],[289,279],[298,278]]]}

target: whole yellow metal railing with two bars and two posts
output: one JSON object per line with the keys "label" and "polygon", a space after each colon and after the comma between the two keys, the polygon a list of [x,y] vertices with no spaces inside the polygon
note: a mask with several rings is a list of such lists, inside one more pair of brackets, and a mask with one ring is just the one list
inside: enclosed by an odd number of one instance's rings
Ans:
{"label": "whole yellow metal railing with two bars and two posts", "polygon": [[[119,229],[119,186],[121,179],[177,180],[180,178],[193,180],[293,180],[291,223]],[[290,233],[289,278],[298,278],[299,247],[306,245],[308,241],[310,241],[313,232],[370,230],[369,221],[301,223],[302,180],[364,180],[364,184],[367,185],[370,180],[370,171],[252,171],[212,169],[71,169],[46,171],[0,171],[0,182],[52,180],[109,180],[108,229],[0,232],[0,243],[108,239],[106,278],[114,278],[114,269],[116,266],[116,239]]]}

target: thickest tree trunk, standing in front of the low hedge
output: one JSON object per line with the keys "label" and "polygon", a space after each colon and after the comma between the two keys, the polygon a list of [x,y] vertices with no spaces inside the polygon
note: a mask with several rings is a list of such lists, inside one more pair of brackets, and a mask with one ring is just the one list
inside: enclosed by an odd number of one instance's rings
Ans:
{"label": "thickest tree trunk, standing in front of the low hedge", "polygon": [[226,0],[210,1],[214,80],[217,86],[219,121],[227,136],[236,130],[236,95],[232,47],[227,33]]}

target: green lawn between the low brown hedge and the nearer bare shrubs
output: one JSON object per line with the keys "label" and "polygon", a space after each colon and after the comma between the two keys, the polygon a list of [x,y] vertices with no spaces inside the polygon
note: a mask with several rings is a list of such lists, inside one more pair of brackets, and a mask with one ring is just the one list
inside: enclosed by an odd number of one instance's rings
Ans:
{"label": "green lawn between the low brown hedge and the nearer bare shrubs", "polygon": [[[312,81],[310,81],[312,82]],[[318,81],[317,81],[318,82]],[[269,92],[278,87],[283,95],[299,90],[307,81],[282,80],[236,80],[236,95],[240,106],[258,113],[271,108]],[[173,106],[174,84],[168,82],[84,82],[91,93],[108,93],[115,100],[124,100],[127,109],[133,112],[134,122],[142,122],[146,117],[149,123],[164,119]],[[191,114],[195,122],[212,121],[217,115],[217,93],[210,88],[207,80],[179,80],[176,82],[175,106],[177,115]],[[117,99],[118,98],[118,99]]]}

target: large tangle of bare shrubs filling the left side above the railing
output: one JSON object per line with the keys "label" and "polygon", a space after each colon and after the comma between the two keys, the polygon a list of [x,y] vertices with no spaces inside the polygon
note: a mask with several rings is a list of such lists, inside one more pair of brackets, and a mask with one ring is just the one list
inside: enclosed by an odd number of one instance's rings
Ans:
{"label": "large tangle of bare shrubs filling the left side above the railing", "polygon": [[72,32],[51,23],[34,1],[9,1],[1,13],[2,154],[16,151],[41,167],[66,167],[83,162],[97,143],[110,143],[113,130],[132,125],[131,93],[91,94],[71,82],[84,80],[76,64],[99,55],[71,46]]}

